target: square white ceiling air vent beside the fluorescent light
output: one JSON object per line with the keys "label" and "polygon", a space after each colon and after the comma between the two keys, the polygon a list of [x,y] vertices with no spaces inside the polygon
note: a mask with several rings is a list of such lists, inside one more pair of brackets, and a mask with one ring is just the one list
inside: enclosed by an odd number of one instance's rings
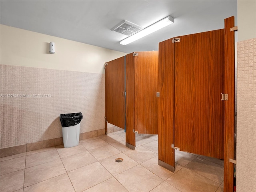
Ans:
{"label": "square white ceiling air vent beside the fluorescent light", "polygon": [[132,22],[123,20],[122,22],[120,22],[119,24],[114,26],[111,30],[118,32],[118,33],[122,33],[127,36],[130,36],[138,31],[142,30],[142,27],[138,26]]}

